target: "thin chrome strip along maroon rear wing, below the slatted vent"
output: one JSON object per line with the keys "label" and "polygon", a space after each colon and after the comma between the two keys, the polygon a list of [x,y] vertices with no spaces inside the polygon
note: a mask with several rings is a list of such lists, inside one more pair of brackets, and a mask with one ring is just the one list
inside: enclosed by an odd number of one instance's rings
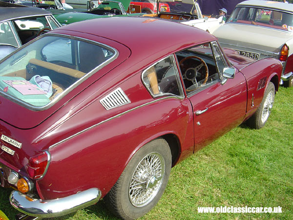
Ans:
{"label": "thin chrome strip along maroon rear wing, below the slatted vent", "polygon": [[52,150],[54,147],[56,147],[57,145],[59,145],[59,144],[65,142],[65,141],[71,139],[72,137],[75,137],[75,136],[77,136],[77,135],[79,135],[79,134],[81,134],[81,133],[83,133],[83,132],[86,132],[86,131],[88,131],[88,130],[90,130],[90,129],[92,129],[92,128],[95,128],[95,127],[97,127],[97,126],[99,126],[99,125],[101,125],[101,124],[104,124],[105,122],[110,121],[110,120],[112,120],[112,119],[114,119],[114,118],[120,117],[121,115],[124,115],[124,114],[126,114],[126,113],[128,113],[128,112],[130,112],[130,111],[133,111],[133,110],[136,110],[136,109],[142,108],[142,107],[144,107],[144,106],[147,106],[147,105],[153,104],[153,103],[155,103],[155,102],[159,102],[159,101],[161,101],[161,100],[169,99],[169,98],[183,99],[183,98],[180,98],[180,97],[175,96],[175,95],[173,95],[173,96],[167,96],[167,97],[163,97],[163,98],[160,98],[160,99],[156,99],[156,100],[154,100],[154,101],[151,101],[151,102],[145,103],[145,104],[143,104],[143,105],[137,106],[137,107],[135,107],[135,108],[133,108],[133,109],[126,110],[126,111],[121,112],[121,113],[119,113],[119,114],[117,114],[117,115],[114,115],[114,116],[112,116],[112,117],[110,117],[110,118],[108,118],[108,119],[106,119],[106,120],[104,120],[104,121],[101,121],[101,122],[99,122],[99,123],[97,123],[97,124],[95,124],[95,125],[92,125],[92,126],[86,128],[86,129],[84,129],[83,131],[80,131],[80,132],[77,132],[77,133],[75,133],[75,134],[72,134],[71,136],[69,136],[69,137],[67,137],[67,138],[65,138],[65,139],[63,139],[63,140],[61,140],[61,141],[59,141],[59,142],[57,142],[57,143],[51,145],[51,146],[48,148],[48,150],[50,151],[50,150]]}

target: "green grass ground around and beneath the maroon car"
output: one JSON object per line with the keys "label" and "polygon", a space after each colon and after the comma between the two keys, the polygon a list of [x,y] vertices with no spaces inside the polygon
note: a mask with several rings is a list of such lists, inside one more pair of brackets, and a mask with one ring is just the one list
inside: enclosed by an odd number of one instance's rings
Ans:
{"label": "green grass ground around and beneath the maroon car", "polygon": [[[0,209],[13,219],[10,189]],[[197,207],[282,207],[282,213],[198,213]],[[57,220],[114,220],[97,205]],[[141,220],[293,220],[293,88],[279,89],[266,126],[240,125],[172,168],[167,189]]]}

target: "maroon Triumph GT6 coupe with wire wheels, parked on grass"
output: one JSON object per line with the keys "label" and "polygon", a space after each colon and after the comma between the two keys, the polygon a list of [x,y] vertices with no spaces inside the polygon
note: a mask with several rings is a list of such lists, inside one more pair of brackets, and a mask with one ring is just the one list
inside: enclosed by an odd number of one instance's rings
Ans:
{"label": "maroon Triumph GT6 coupe with wire wheels, parked on grass", "polygon": [[172,166],[247,119],[265,125],[281,71],[180,23],[107,18],[53,30],[0,63],[0,184],[28,216],[105,197],[136,219]]}

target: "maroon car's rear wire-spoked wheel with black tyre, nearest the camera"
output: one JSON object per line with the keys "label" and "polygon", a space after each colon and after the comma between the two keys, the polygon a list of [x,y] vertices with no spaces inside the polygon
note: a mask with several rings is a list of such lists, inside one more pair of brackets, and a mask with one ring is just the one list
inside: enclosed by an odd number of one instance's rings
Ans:
{"label": "maroon car's rear wire-spoked wheel with black tyre, nearest the camera", "polygon": [[145,215],[159,201],[171,170],[171,152],[164,139],[155,139],[133,155],[105,196],[114,215],[133,220]]}

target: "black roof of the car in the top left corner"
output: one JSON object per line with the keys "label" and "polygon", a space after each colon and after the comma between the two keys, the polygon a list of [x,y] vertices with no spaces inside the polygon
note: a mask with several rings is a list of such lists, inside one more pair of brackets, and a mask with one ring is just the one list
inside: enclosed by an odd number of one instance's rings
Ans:
{"label": "black roof of the car in the top left corner", "polygon": [[52,13],[37,7],[2,7],[0,3],[0,22],[51,14]]}

